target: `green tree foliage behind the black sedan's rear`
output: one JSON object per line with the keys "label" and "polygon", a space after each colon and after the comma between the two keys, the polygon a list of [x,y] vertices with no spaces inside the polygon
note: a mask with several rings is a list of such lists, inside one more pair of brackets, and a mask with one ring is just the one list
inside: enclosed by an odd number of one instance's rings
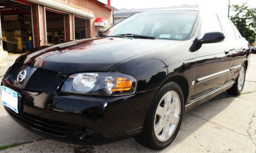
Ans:
{"label": "green tree foliage behind the black sedan's rear", "polygon": [[242,5],[232,5],[231,10],[234,15],[230,17],[230,20],[249,43],[254,42],[256,36],[256,8],[251,8],[243,3]]}

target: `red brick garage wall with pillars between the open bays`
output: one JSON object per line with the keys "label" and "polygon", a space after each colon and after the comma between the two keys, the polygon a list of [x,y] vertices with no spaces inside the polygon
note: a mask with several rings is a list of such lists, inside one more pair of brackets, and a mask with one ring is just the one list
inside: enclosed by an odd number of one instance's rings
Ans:
{"label": "red brick garage wall with pillars between the open bays", "polygon": [[[87,20],[87,37],[95,37],[97,35],[97,27],[94,26],[94,21],[97,17],[102,17],[108,20],[111,26],[111,10],[103,7],[101,4],[96,3],[92,0],[52,0],[58,3],[65,4],[67,6],[82,10],[94,14],[95,18]],[[38,17],[38,6],[39,6],[39,17]],[[53,8],[54,9],[54,8]],[[34,43],[35,47],[46,45],[46,27],[45,27],[45,9],[41,5],[33,5],[33,28],[34,28]],[[66,40],[73,40],[74,38],[74,20],[73,14],[65,15],[65,29],[66,29]],[[40,25],[39,25],[40,23]],[[40,29],[40,32],[39,32]],[[40,36],[39,36],[40,35]]]}

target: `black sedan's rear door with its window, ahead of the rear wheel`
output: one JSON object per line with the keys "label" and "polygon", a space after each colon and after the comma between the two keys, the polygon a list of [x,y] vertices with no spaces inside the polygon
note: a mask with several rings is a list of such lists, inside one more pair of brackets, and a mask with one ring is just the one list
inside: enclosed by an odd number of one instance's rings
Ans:
{"label": "black sedan's rear door with its window, ahead of the rear wheel", "polygon": [[218,15],[218,17],[225,31],[226,43],[229,45],[229,49],[226,50],[230,57],[230,72],[228,73],[227,80],[234,80],[237,78],[239,69],[246,59],[248,42],[241,37],[237,28],[228,18],[222,15]]}

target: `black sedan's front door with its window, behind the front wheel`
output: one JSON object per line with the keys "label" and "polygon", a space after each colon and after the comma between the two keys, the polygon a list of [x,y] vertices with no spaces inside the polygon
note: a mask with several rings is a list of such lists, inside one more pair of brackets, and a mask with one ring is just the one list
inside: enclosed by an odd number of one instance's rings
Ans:
{"label": "black sedan's front door with its window, behind the front wheel", "polygon": [[[198,39],[209,32],[223,32],[220,21],[214,13],[204,14]],[[224,52],[227,49],[229,45],[222,41],[202,44],[201,48],[196,50],[197,70],[194,98],[226,83],[230,65],[230,58]]]}

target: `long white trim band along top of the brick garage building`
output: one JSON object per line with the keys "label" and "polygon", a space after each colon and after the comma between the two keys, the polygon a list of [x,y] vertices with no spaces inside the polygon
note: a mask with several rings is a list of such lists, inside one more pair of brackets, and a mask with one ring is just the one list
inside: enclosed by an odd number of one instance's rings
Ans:
{"label": "long white trim band along top of the brick garage building", "polygon": [[72,8],[70,6],[66,6],[64,4],[60,4],[54,1],[50,1],[50,0],[27,0],[28,2],[31,3],[36,3],[36,4],[40,4],[40,5],[44,5],[46,7],[49,8],[55,8],[57,10],[63,11],[63,12],[68,12],[68,13],[72,13],[72,14],[76,14],[82,17],[86,17],[86,18],[94,18],[94,15],[89,13],[89,12],[84,12],[75,8]]}

